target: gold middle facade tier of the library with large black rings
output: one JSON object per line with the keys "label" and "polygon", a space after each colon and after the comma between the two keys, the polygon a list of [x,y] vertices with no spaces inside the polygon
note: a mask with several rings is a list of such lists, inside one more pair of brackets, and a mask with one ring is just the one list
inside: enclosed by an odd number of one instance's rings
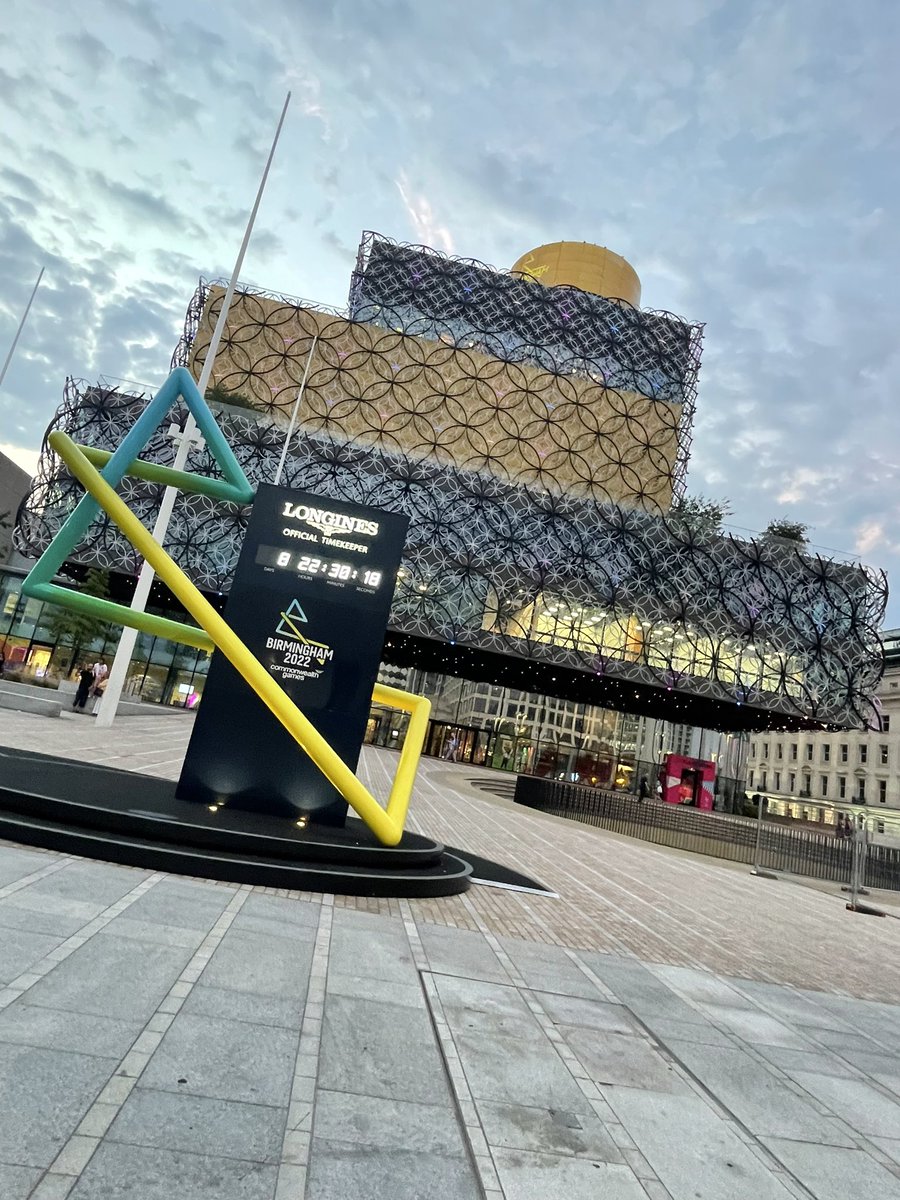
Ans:
{"label": "gold middle facade tier of the library with large black rings", "polygon": [[[222,299],[192,348],[199,374]],[[310,359],[310,355],[312,358]],[[238,293],[214,384],[298,426],[516,484],[667,510],[680,406]]]}

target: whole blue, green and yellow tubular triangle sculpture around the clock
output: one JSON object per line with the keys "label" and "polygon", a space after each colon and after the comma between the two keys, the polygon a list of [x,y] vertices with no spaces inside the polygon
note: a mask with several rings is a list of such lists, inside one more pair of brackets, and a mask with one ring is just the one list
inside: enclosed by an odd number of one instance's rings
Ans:
{"label": "whole blue, green and yellow tubular triangle sculpture around the clock", "polygon": [[[206,479],[192,475],[190,472],[157,467],[154,463],[142,462],[138,457],[178,400],[184,400],[193,413],[200,432],[206,438],[206,444],[226,476],[224,480]],[[175,642],[185,642],[200,649],[221,650],[298,745],[312,758],[329,782],[365,821],[376,838],[386,846],[396,846],[403,836],[415,772],[425,745],[431,712],[430,701],[424,696],[414,696],[412,692],[376,684],[372,698],[377,703],[409,713],[409,726],[400,754],[397,773],[394,776],[386,808],[383,808],[300,712],[263,664],[251,654],[209,600],[191,583],[181,568],[166,553],[127,504],[115,493],[115,487],[121,479],[131,474],[139,479],[172,484],[186,492],[199,492],[235,504],[248,504],[253,499],[252,486],[232,454],[190,373],[184,367],[178,367],[172,372],[155,400],[150,402],[134,428],[114,454],[89,446],[78,446],[68,434],[59,431],[49,436],[48,444],[85,487],[88,494],[79,500],[74,512],[31,569],[22,587],[25,595],[102,617],[118,624],[131,625],[144,632]],[[97,470],[97,466],[101,466],[102,470]],[[125,605],[101,600],[97,596],[88,596],[52,582],[101,509],[121,529],[138,553],[150,563],[162,582],[200,628],[138,612]]]}

